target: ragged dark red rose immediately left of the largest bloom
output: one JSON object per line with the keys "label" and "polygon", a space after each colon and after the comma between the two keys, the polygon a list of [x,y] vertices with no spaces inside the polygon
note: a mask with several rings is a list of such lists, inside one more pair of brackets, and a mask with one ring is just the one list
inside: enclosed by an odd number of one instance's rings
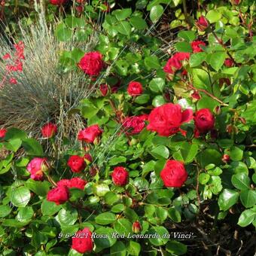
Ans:
{"label": "ragged dark red rose immediately left of the largest bloom", "polygon": [[148,119],[148,114],[142,114],[139,116],[126,117],[123,120],[123,127],[126,130],[127,135],[133,135],[140,133],[145,127],[145,120]]}

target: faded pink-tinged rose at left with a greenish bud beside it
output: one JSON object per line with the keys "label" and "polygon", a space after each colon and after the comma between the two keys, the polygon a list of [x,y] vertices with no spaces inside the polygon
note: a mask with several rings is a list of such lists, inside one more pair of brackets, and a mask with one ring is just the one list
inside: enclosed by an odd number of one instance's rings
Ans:
{"label": "faded pink-tinged rose at left with a greenish bud beside it", "polygon": [[44,176],[44,171],[48,168],[47,159],[35,157],[33,158],[26,169],[30,172],[30,178],[34,179],[35,181],[41,181]]}

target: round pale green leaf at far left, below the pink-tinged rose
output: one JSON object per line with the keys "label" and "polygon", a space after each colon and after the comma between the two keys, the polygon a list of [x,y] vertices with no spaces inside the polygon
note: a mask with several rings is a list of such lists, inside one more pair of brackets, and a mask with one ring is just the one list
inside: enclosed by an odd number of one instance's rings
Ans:
{"label": "round pale green leaf at far left, below the pink-tinged rose", "polygon": [[11,191],[11,203],[17,207],[25,207],[30,200],[30,191],[26,187],[17,187]]}

